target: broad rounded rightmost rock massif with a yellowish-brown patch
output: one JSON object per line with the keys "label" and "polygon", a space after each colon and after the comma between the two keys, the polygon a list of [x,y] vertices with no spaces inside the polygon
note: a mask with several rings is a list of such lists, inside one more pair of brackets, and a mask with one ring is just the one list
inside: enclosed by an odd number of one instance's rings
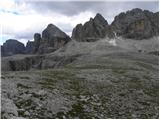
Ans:
{"label": "broad rounded rightmost rock massif with a yellowish-brown patch", "polygon": [[118,36],[125,38],[150,38],[159,33],[158,14],[135,8],[116,16],[111,27]]}

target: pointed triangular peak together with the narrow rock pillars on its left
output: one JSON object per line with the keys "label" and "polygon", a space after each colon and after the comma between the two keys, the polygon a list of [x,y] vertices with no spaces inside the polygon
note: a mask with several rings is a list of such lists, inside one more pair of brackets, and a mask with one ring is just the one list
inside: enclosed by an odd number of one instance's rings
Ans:
{"label": "pointed triangular peak together with the narrow rock pillars on its left", "polygon": [[39,33],[35,33],[34,42],[30,45],[30,41],[27,43],[29,53],[45,54],[54,52],[60,47],[64,46],[71,39],[63,31],[53,24],[49,24],[47,28],[42,32],[42,38]]}

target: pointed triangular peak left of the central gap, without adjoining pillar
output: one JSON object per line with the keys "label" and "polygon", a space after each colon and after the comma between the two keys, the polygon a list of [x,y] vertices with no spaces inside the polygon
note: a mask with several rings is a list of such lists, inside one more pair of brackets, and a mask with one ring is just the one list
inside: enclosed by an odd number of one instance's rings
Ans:
{"label": "pointed triangular peak left of the central gap, without adjoining pillar", "polygon": [[49,24],[42,32],[42,41],[40,42],[38,53],[53,52],[64,46],[71,39],[62,30],[53,24]]}

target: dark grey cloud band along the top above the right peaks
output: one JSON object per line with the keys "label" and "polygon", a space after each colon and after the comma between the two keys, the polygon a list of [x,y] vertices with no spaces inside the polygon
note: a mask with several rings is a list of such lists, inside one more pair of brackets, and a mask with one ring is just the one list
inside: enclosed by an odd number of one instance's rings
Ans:
{"label": "dark grey cloud band along the top above the right peaks", "polygon": [[96,1],[96,2],[55,2],[55,1],[40,1],[40,2],[29,2],[28,4],[38,12],[47,13],[47,12],[57,12],[61,14],[65,14],[67,16],[73,16],[78,13],[84,11],[93,11],[95,13],[100,12],[107,17],[107,12],[110,14],[113,13],[120,13],[122,11],[126,11],[133,8],[141,8],[147,9],[153,12],[158,11],[158,1],[141,1],[141,2],[104,2],[104,1]]}

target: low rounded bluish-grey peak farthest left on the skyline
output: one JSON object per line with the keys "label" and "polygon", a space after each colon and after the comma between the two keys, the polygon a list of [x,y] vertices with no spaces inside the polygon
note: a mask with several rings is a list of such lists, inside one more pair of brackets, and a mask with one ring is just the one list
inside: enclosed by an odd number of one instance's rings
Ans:
{"label": "low rounded bluish-grey peak farthest left on the skyline", "polygon": [[9,39],[7,40],[3,46],[1,46],[1,55],[2,56],[10,56],[14,54],[24,54],[25,46],[23,43]]}

